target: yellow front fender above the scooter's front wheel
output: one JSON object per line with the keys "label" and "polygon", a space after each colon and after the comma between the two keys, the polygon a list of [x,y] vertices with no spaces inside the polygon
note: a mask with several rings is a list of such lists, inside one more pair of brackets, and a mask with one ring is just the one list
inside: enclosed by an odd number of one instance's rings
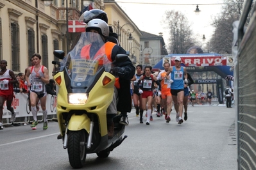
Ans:
{"label": "yellow front fender above the scooter's front wheel", "polygon": [[78,131],[85,129],[87,133],[90,132],[90,118],[87,114],[76,115],[73,114],[69,120],[69,130]]}

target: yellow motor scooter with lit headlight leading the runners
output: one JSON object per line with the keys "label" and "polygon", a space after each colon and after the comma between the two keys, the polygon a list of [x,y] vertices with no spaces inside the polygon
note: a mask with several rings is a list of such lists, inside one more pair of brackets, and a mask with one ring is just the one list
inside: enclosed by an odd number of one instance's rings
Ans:
{"label": "yellow motor scooter with lit headlight leading the runners", "polygon": [[[108,157],[110,151],[127,137],[123,137],[125,125],[119,123],[119,115],[113,118],[114,136],[108,137],[106,112],[114,96],[115,76],[110,73],[113,63],[108,61],[102,48],[97,56],[81,57],[81,48],[91,43],[88,34],[82,33],[67,56],[62,50],[55,50],[55,57],[61,61],[52,62],[57,86],[59,138],[63,148],[67,148],[69,162],[74,168],[85,164],[88,153]],[[122,62],[122,58],[127,56],[117,56],[114,62]]]}

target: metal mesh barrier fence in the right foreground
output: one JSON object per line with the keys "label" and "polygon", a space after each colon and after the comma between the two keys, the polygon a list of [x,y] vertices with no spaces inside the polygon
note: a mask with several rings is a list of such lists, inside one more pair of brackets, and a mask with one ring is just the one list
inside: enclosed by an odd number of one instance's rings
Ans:
{"label": "metal mesh barrier fence in the right foreground", "polygon": [[[256,169],[256,3],[244,1],[238,26],[238,51],[235,59],[237,96],[237,164],[238,169]],[[250,23],[244,33],[248,16]]]}

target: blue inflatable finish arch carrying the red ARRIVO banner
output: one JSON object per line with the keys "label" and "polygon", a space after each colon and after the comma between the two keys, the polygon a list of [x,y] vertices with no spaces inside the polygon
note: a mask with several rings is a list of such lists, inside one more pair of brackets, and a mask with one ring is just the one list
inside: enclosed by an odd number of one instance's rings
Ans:
{"label": "blue inflatable finish arch carrying the red ARRIVO banner", "polygon": [[[162,58],[153,68],[159,68],[164,70],[164,63],[170,63],[171,66],[175,65],[175,58],[180,56],[182,63],[187,67],[187,72],[207,72],[213,71],[218,73],[223,79],[226,75],[233,75],[230,70],[231,66],[234,65],[234,59],[231,55],[223,54],[169,54]],[[212,84],[216,83],[218,89],[219,104],[223,104],[223,90],[222,79],[216,79],[209,82],[208,80],[194,80],[194,84]]]}

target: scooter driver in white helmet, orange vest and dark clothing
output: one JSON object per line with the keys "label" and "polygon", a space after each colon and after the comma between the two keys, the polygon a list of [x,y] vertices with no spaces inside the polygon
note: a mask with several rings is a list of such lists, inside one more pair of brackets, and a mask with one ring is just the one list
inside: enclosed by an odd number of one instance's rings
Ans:
{"label": "scooter driver in white helmet, orange vest and dark clothing", "polygon": [[[108,42],[109,27],[108,24],[101,19],[92,19],[88,22],[86,32],[97,33],[101,35],[101,38],[105,44],[99,46],[99,43],[92,42],[89,45],[85,45],[81,49],[81,58],[90,59],[97,54],[98,50],[102,49],[105,45],[105,54],[109,61],[114,61],[117,54],[126,54],[126,51],[113,42]],[[93,34],[92,34],[93,36]],[[97,39],[95,39],[97,41]],[[111,50],[110,50],[111,49]],[[119,77],[119,84],[114,88],[114,97],[112,103],[107,109],[107,124],[108,124],[108,137],[114,135],[114,122],[113,117],[120,111],[122,114],[121,124],[128,125],[127,112],[132,110],[130,98],[130,79],[135,74],[135,67],[132,65],[132,61],[128,58],[122,63],[115,63],[115,67],[112,72]],[[118,95],[117,95],[118,94]],[[116,104],[116,97],[119,97],[119,102]]]}

